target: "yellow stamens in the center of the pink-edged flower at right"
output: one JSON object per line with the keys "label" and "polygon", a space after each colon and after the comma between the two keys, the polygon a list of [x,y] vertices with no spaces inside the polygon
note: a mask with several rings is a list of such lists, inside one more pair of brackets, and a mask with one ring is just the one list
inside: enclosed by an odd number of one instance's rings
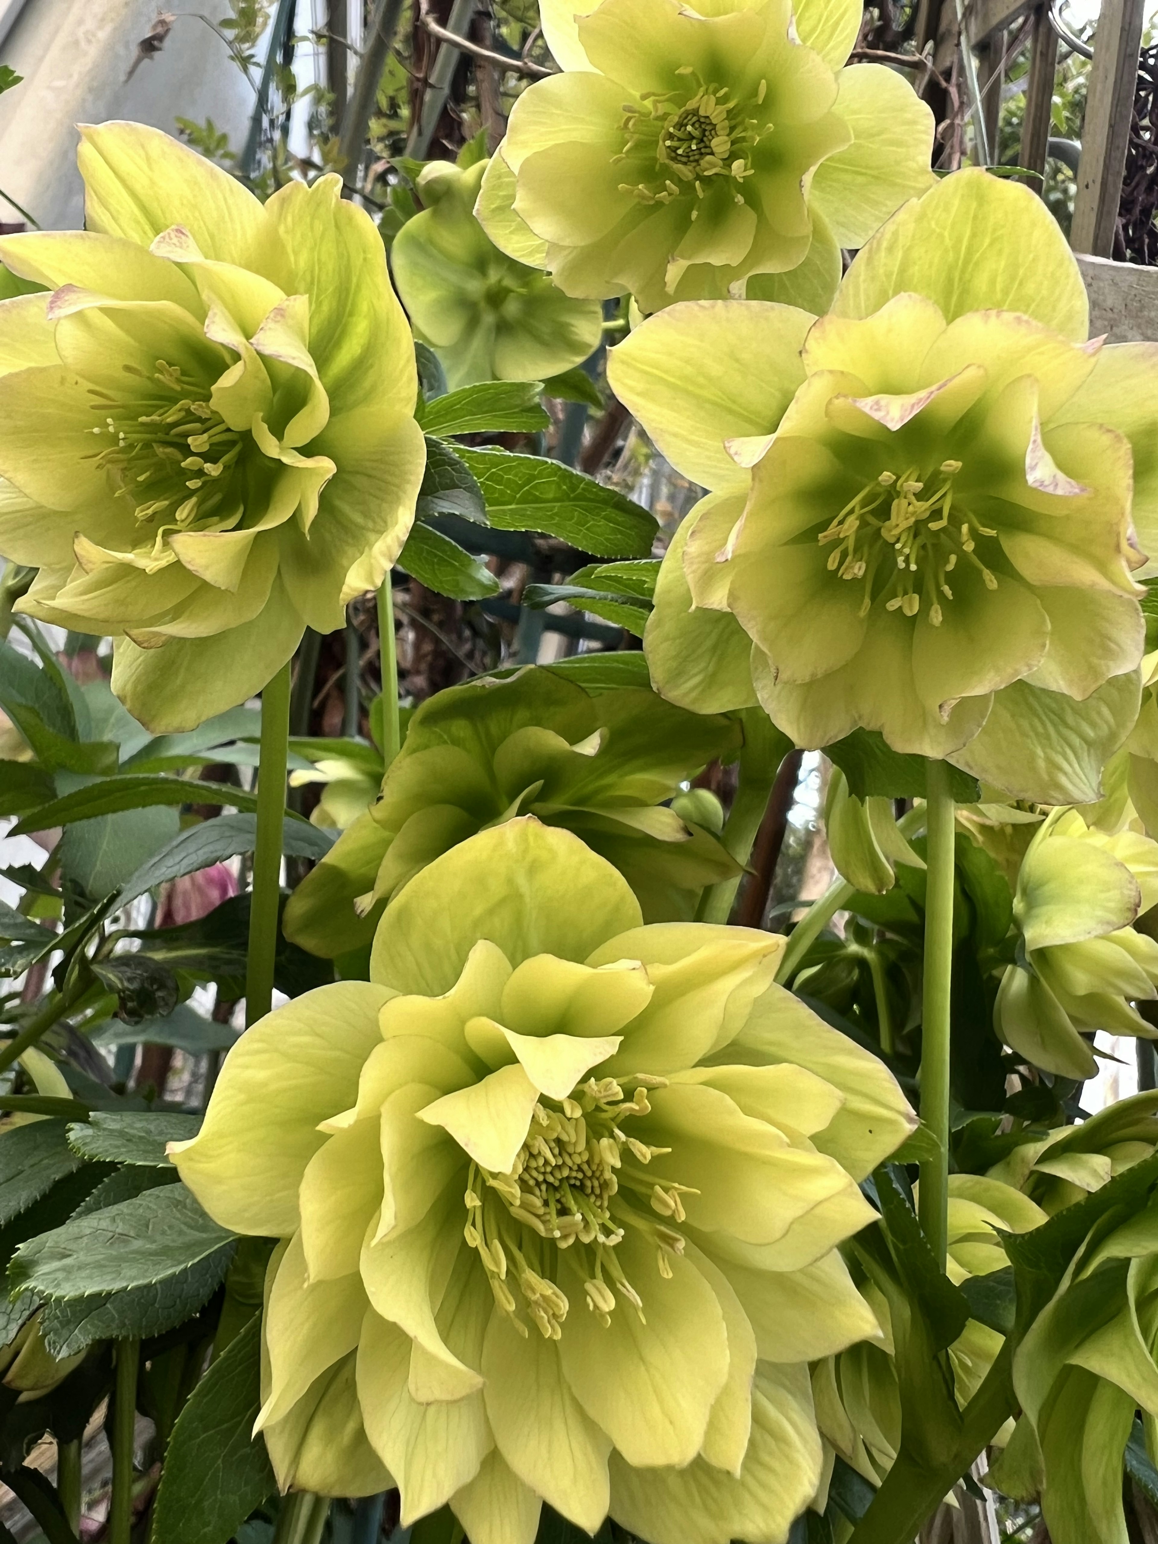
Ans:
{"label": "yellow stamens in the center of the pink-edged flower at right", "polygon": [[996,531],[953,510],[953,479],[960,462],[942,462],[929,477],[916,466],[900,476],[882,472],[851,499],[820,533],[829,553],[828,568],[840,579],[863,581],[866,616],[875,601],[886,611],[916,616],[922,602],[929,622],[945,619],[942,599],[953,599],[950,574],[959,562],[979,570],[987,590],[997,588],[996,574],[976,553],[977,539],[993,539]]}

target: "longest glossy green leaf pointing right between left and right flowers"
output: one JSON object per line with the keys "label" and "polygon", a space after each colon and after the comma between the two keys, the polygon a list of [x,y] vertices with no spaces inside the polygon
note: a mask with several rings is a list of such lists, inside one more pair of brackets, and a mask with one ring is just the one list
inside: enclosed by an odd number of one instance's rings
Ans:
{"label": "longest glossy green leaf pointing right between left and right flowers", "polygon": [[543,531],[598,557],[648,557],[655,517],[613,488],[539,455],[459,449],[479,479],[491,525]]}

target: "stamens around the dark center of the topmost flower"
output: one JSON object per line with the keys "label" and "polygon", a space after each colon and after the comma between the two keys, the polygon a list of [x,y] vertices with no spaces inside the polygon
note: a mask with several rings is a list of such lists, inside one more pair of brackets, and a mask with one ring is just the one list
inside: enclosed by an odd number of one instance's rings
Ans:
{"label": "stamens around the dark center of the topmost flower", "polygon": [[[692,74],[686,65],[678,74]],[[767,82],[760,82],[757,105],[764,100]],[[707,178],[726,176],[735,184],[732,196],[744,202],[744,178],[753,174],[752,150],[760,139],[755,117],[744,116],[727,86],[701,83],[695,94],[676,105],[682,93],[642,91],[642,107],[625,102],[621,128],[627,142],[613,164],[627,161],[638,145],[650,145],[656,157],[656,176],[642,182],[621,182],[619,191],[630,193],[644,204],[670,204],[689,187],[696,198],[704,196]],[[676,181],[673,181],[676,179]],[[682,187],[681,187],[682,184]],[[698,210],[692,212],[696,218]]]}

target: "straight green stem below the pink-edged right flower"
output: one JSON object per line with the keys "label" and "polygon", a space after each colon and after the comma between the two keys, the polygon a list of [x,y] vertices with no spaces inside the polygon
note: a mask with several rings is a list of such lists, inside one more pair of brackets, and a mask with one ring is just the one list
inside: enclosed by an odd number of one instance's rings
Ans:
{"label": "straight green stem below the pink-edged right flower", "polygon": [[925,999],[920,1031],[920,1118],[937,1156],[920,1166],[920,1226],[945,1269],[950,1206],[950,990],[953,985],[953,838],[950,769],[929,761],[925,892]]}

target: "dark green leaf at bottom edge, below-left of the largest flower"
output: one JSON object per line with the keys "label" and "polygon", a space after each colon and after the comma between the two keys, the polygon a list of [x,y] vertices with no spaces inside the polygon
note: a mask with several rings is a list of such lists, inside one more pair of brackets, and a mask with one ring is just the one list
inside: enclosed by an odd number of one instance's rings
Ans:
{"label": "dark green leaf at bottom edge, below-left of the largest flower", "polygon": [[261,1437],[261,1320],[253,1317],[193,1390],[165,1454],[156,1536],[222,1544],[273,1490]]}

